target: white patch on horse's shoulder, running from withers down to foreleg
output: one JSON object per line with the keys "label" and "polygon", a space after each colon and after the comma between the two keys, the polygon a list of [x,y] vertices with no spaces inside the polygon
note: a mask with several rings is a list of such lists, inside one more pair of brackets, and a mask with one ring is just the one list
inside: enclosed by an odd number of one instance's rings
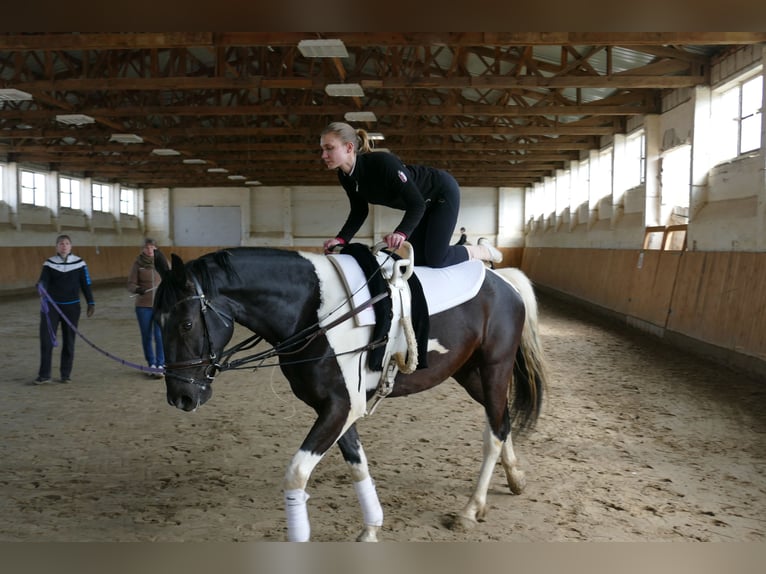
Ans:
{"label": "white patch on horse's shoulder, running from withers down to foreleg", "polygon": [[[319,278],[321,304],[318,311],[320,325],[324,326],[353,307],[346,295],[346,289],[337,270],[325,255],[300,252],[316,269]],[[367,409],[367,390],[375,389],[381,373],[367,368],[367,351],[357,351],[370,342],[373,327],[357,327],[349,317],[344,322],[327,331],[327,340],[336,354],[338,366],[351,397],[351,412],[345,430],[356,419],[364,416]],[[360,380],[361,378],[361,380]]]}

